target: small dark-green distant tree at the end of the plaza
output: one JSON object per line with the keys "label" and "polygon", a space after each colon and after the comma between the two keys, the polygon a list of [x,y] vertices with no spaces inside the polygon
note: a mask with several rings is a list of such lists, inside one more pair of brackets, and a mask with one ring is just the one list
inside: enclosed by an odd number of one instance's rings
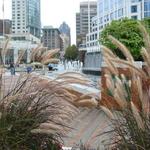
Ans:
{"label": "small dark-green distant tree at the end of the plaza", "polygon": [[78,57],[78,49],[75,45],[69,46],[64,55],[65,59],[75,60]]}

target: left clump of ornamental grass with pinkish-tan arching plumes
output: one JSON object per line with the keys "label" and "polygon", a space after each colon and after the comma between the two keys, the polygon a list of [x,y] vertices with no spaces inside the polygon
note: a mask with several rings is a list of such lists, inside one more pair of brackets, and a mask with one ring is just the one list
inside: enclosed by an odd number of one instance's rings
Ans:
{"label": "left clump of ornamental grass with pinkish-tan arching plumes", "polygon": [[[8,40],[4,44],[7,49]],[[42,50],[39,45],[32,59]],[[4,53],[5,50],[2,50]],[[36,52],[35,52],[36,51]],[[57,50],[58,51],[58,50]],[[43,54],[50,59],[56,51]],[[3,54],[1,54],[3,56]],[[23,53],[18,58],[18,63]],[[3,60],[3,59],[2,59]],[[0,150],[59,150],[69,125],[81,105],[95,107],[95,100],[71,88],[71,84],[90,85],[84,75],[64,73],[48,80],[35,74],[8,76],[0,68]],[[80,102],[82,100],[82,102]],[[84,100],[84,101],[83,101]]]}

